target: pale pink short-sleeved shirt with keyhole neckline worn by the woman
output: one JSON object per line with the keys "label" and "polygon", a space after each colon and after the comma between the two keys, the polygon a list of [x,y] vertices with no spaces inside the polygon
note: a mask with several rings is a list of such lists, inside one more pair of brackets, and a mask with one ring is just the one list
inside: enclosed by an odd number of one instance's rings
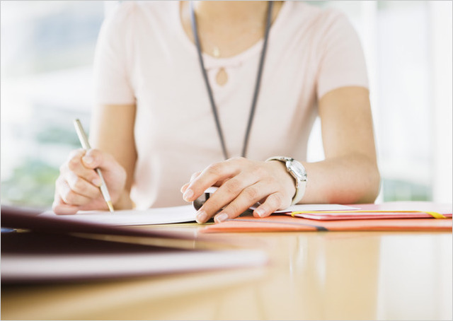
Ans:
{"label": "pale pink short-sleeved shirt with keyhole neckline worn by the woman", "polygon": [[[137,208],[185,204],[190,175],[223,161],[197,49],[178,1],[124,1],[105,19],[95,58],[96,103],[137,105]],[[241,156],[263,41],[229,58],[204,54],[229,155]],[[224,68],[228,81],[215,76]],[[343,86],[367,87],[362,48],[338,11],[283,4],[269,35],[247,157],[306,160],[317,101]]]}

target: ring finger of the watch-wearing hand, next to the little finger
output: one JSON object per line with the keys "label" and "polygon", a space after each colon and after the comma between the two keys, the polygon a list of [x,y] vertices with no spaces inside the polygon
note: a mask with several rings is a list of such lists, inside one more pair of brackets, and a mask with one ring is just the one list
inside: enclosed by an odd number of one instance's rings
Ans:
{"label": "ring finger of the watch-wearing hand, next to the little finger", "polygon": [[275,193],[276,186],[268,182],[260,181],[254,185],[243,189],[231,203],[225,206],[219,214],[214,217],[216,223],[226,221],[229,218],[235,218],[246,211],[250,206],[256,204],[261,199]]}

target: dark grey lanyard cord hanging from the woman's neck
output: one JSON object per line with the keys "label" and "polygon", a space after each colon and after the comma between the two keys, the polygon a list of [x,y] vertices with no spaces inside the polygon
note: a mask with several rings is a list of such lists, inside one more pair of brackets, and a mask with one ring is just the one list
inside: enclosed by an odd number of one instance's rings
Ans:
{"label": "dark grey lanyard cord hanging from the woman's neck", "polygon": [[[251,105],[251,109],[250,109],[250,115],[248,116],[246,135],[243,139],[243,147],[242,147],[242,153],[241,153],[242,157],[246,157],[248,138],[250,136],[252,122],[253,122],[253,116],[255,115],[255,110],[256,110],[256,101],[258,100],[258,93],[260,91],[260,83],[261,83],[261,75],[263,74],[264,58],[265,58],[266,49],[268,48],[268,37],[269,37],[269,30],[270,30],[270,21],[271,21],[271,16],[272,16],[272,8],[273,8],[273,1],[268,1],[268,15],[267,15],[267,19],[266,19],[266,28],[265,28],[265,34],[264,34],[263,49],[261,49],[260,64],[258,65],[258,74],[256,75],[255,92],[253,93],[253,100],[252,100],[252,105]],[[229,154],[228,154],[228,151],[226,151],[224,135],[222,132],[222,126],[220,125],[219,115],[217,113],[217,107],[214,102],[214,96],[212,95],[212,88],[211,88],[210,82],[207,78],[205,62],[203,61],[203,57],[202,57],[200,39],[198,38],[197,19],[195,18],[195,11],[193,9],[193,1],[190,1],[190,21],[192,22],[193,37],[195,38],[195,45],[197,46],[198,59],[200,61],[202,75],[203,75],[203,78],[205,79],[207,94],[209,95],[212,113],[214,114],[214,120],[215,120],[215,124],[217,127],[217,134],[219,134],[220,144],[222,145],[222,151],[224,154],[224,158],[228,159]]]}

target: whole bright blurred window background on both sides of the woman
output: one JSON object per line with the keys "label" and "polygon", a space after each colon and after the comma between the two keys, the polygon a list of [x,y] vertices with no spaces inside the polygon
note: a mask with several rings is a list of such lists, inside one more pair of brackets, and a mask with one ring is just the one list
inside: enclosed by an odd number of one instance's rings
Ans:
{"label": "whole bright blurred window background on both sides of the woman", "polygon": [[[343,11],[367,59],[377,202],[452,203],[452,1],[309,1]],[[88,129],[92,62],[117,1],[1,1],[1,203],[48,208]],[[309,161],[323,158],[316,122]]]}

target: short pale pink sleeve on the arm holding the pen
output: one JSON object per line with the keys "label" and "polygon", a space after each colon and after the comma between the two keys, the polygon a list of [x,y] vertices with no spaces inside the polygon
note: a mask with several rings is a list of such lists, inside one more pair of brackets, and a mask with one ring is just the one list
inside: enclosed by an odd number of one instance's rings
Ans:
{"label": "short pale pink sleeve on the arm holding the pen", "polygon": [[122,3],[111,12],[101,27],[94,57],[94,99],[101,105],[132,105],[127,50],[130,37],[132,3]]}

